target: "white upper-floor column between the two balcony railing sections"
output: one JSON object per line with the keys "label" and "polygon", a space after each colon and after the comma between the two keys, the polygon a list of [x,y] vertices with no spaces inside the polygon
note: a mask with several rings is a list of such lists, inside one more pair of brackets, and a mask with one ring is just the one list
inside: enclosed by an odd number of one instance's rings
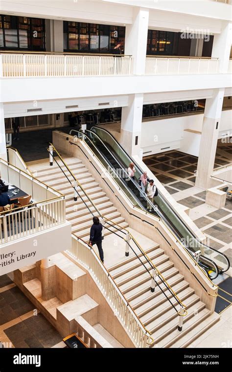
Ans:
{"label": "white upper-floor column between the two balcony railing sections", "polygon": [[133,73],[135,75],[144,75],[145,73],[148,19],[148,9],[135,8],[133,24],[126,26],[124,53],[133,56]]}

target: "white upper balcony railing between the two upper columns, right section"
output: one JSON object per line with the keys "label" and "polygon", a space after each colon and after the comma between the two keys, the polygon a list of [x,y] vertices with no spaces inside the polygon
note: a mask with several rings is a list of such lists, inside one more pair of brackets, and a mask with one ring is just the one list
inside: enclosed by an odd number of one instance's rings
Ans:
{"label": "white upper balcony railing between the two upper columns, right section", "polygon": [[145,75],[218,73],[218,58],[147,57]]}

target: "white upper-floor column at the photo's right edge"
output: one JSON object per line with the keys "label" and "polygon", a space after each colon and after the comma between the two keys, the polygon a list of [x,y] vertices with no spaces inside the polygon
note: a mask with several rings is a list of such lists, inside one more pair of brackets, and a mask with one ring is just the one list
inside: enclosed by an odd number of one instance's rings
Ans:
{"label": "white upper-floor column at the photo's right edge", "polygon": [[213,37],[212,58],[219,58],[219,72],[227,73],[232,39],[232,23],[222,23],[222,32]]}

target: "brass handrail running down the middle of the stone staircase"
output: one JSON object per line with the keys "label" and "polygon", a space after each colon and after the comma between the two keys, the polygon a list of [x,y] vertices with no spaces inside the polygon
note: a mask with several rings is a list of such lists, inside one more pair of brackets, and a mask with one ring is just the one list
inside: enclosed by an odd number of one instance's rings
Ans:
{"label": "brass handrail running down the middle of the stone staircase", "polygon": [[[86,143],[86,142],[85,142]],[[178,302],[183,306],[183,307],[186,307],[186,305],[180,300],[180,298],[177,296],[177,294],[175,293],[175,291],[172,289],[172,287],[168,284],[168,282],[163,278],[162,274],[160,273],[160,271],[157,269],[156,265],[150,260],[150,258],[146,255],[146,253],[143,251],[142,247],[140,246],[139,242],[137,242],[137,240],[135,239],[135,237],[131,234],[131,232],[129,232],[128,229],[126,228],[122,228],[120,225],[118,225],[116,222],[110,220],[109,218],[105,217],[103,214],[101,214],[101,212],[98,210],[98,208],[95,206],[94,202],[92,201],[92,199],[89,197],[88,193],[86,192],[86,190],[82,187],[82,185],[80,184],[80,182],[77,180],[77,178],[73,175],[73,173],[71,172],[69,166],[64,162],[64,160],[62,159],[62,157],[60,156],[59,152],[56,150],[56,148],[53,146],[52,143],[49,142],[49,144],[54,148],[54,150],[56,151],[58,157],[61,159],[61,161],[67,166],[67,169],[69,170],[70,174],[72,175],[72,177],[74,178],[74,180],[77,182],[78,186],[81,188],[81,190],[84,192],[84,194],[87,196],[87,198],[91,201],[93,207],[96,209],[96,211],[99,213],[99,215],[105,219],[106,221],[111,221],[112,223],[114,223],[114,225],[116,225],[117,227],[120,228],[120,230],[125,230],[127,233],[129,233],[130,237],[132,238],[132,240],[135,242],[135,244],[139,247],[140,251],[142,252],[143,256],[146,257],[147,261],[149,261],[151,263],[151,265],[157,270],[157,272],[159,273],[159,275],[162,277],[163,281],[167,284],[168,288],[170,289],[170,291],[172,292],[172,294],[174,295],[174,297],[178,300]],[[88,145],[87,145],[88,146]],[[89,146],[88,146],[89,147]],[[90,149],[90,147],[89,147]],[[48,150],[49,151],[49,150]],[[102,164],[103,165],[103,164]],[[124,239],[125,240],[125,239]],[[152,277],[152,275],[149,273],[150,277]]]}

